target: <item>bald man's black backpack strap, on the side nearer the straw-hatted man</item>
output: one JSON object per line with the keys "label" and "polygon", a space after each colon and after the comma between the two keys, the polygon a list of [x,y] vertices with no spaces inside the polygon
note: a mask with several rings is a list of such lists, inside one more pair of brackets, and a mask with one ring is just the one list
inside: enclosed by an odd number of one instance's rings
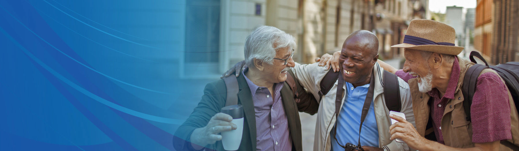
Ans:
{"label": "bald man's black backpack strap, on the side nearer the straw-hatted man", "polygon": [[384,98],[386,107],[389,111],[400,112],[402,102],[400,100],[400,87],[398,77],[391,72],[384,70]]}

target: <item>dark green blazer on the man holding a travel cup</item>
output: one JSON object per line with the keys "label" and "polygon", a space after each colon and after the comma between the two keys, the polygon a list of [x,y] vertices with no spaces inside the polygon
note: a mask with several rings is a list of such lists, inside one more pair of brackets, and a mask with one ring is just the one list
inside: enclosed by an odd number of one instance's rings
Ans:
{"label": "dark green blazer on the man holding a travel cup", "polygon": [[[239,85],[238,104],[243,105],[245,115],[243,135],[238,150],[256,150],[256,119],[251,90],[243,74],[240,74],[237,80]],[[206,126],[211,117],[216,113],[220,113],[220,109],[225,106],[227,90],[222,79],[207,84],[203,92],[202,100],[200,100],[193,113],[175,131],[173,146],[177,150],[192,150],[193,148],[188,146],[190,145],[188,141],[190,140],[191,133],[197,128]],[[281,100],[288,118],[290,135],[292,137],[292,150],[303,150],[301,120],[299,119],[297,105],[293,96],[289,85],[284,82],[284,86],[281,89]],[[206,148],[225,150],[221,141],[209,144]]]}

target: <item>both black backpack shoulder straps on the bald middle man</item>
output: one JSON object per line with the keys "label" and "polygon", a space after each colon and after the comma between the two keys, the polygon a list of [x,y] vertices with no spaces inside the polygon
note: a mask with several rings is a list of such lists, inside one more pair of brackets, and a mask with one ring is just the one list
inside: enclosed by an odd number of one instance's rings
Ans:
{"label": "both black backpack shoulder straps on the bald middle man", "polygon": [[[328,71],[328,73],[324,75],[320,84],[319,100],[322,99],[322,96],[330,92],[330,89],[332,89],[339,75],[340,72],[333,72],[333,70]],[[384,82],[382,86],[384,87],[384,99],[388,110],[400,112],[402,103],[400,100],[400,87],[397,75],[384,70]]]}

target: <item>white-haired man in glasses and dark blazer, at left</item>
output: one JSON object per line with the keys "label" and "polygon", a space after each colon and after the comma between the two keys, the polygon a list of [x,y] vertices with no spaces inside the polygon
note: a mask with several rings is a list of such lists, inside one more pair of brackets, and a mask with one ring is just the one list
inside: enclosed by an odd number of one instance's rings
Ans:
{"label": "white-haired man in glasses and dark blazer, at left", "polygon": [[[238,104],[244,124],[238,150],[302,150],[301,121],[292,91],[285,84],[294,67],[294,37],[276,27],[259,26],[247,37],[249,68],[237,77]],[[177,150],[224,150],[218,133],[236,129],[231,116],[219,113],[226,103],[223,80],[207,84],[202,100],[175,132]]]}

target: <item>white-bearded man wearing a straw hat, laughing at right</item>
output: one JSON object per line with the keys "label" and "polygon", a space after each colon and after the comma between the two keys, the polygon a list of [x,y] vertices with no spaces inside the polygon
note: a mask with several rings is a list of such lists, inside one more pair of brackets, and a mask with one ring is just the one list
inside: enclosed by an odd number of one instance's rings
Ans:
{"label": "white-bearded man wearing a straw hat, laughing at right", "polygon": [[454,28],[446,24],[412,20],[403,43],[392,46],[405,48],[403,69],[379,61],[409,83],[413,99],[416,129],[390,115],[399,121],[390,127],[391,139],[402,139],[417,150],[510,150],[500,141],[512,139],[519,129],[511,128],[517,125],[517,113],[510,110],[513,102],[507,86],[495,71],[483,70],[469,120],[460,88],[473,63],[457,56],[463,47],[454,46],[455,38]]}

